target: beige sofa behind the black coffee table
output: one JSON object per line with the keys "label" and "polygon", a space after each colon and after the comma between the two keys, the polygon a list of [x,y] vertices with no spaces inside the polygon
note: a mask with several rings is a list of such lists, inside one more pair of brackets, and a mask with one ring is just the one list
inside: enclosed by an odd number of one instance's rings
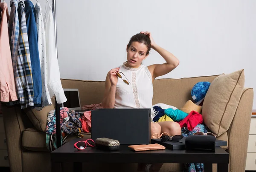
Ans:
{"label": "beige sofa behind the black coffee table", "polygon": [[[212,82],[215,77],[218,77],[218,75],[155,80],[153,105],[165,103],[175,107],[182,107],[187,100],[192,100],[190,92],[195,83],[200,81]],[[104,81],[62,79],[61,82],[63,88],[79,89],[81,105],[100,103],[102,101]],[[242,172],[245,169],[253,106],[253,89],[243,88],[238,103],[236,112],[228,117],[232,122],[227,132],[218,136],[218,139],[228,142],[228,146],[223,148],[227,149],[230,154],[231,172]],[[54,106],[48,106],[41,111],[36,111],[35,109],[23,111],[19,106],[3,106],[2,108],[11,172],[49,172],[51,170],[50,152],[46,148],[44,129],[46,127],[47,114],[54,109]],[[90,138],[90,133],[85,134],[84,137]],[[73,138],[70,135],[68,140]],[[115,167],[120,166],[120,164],[105,164],[104,166],[84,164],[84,166],[87,171],[90,168],[92,171],[100,171],[102,167],[105,169],[103,171],[110,171],[110,169],[114,171]],[[68,171],[70,170],[69,167],[70,165],[67,164],[65,169]],[[137,164],[129,165],[124,163],[122,167],[124,167],[122,171],[135,171]],[[182,168],[183,164],[163,164],[160,171],[177,172],[182,171]]]}

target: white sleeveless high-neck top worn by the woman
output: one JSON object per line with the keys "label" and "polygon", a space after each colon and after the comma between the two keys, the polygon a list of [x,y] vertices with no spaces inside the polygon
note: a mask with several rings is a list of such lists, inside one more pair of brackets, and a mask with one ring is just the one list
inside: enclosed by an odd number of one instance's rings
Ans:
{"label": "white sleeveless high-neck top worn by the woman", "polygon": [[[118,77],[116,85],[116,98],[114,108],[150,108],[151,121],[154,118],[152,107],[153,84],[152,76],[147,66],[140,65],[138,68],[119,66],[122,79],[127,80],[129,85]],[[127,79],[126,79],[126,78]]]}

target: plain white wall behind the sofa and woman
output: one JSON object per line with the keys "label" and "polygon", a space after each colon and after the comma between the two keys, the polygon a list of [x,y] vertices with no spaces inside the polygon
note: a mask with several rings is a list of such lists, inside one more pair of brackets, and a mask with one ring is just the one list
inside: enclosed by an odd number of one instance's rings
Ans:
{"label": "plain white wall behind the sofa and woman", "polygon": [[[44,10],[45,0],[38,1]],[[56,0],[61,78],[105,80],[111,68],[126,61],[130,37],[150,31],[180,60],[159,78],[244,69],[245,86],[256,92],[255,9],[255,0]],[[151,50],[143,64],[164,62]]]}

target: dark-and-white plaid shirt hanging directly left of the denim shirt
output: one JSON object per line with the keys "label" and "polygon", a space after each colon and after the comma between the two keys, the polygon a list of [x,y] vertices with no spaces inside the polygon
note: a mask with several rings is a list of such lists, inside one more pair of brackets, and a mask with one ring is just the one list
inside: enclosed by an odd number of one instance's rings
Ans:
{"label": "dark-and-white plaid shirt hanging directly left of the denim shirt", "polygon": [[29,54],[29,39],[26,27],[26,15],[22,1],[18,3],[18,16],[20,22],[20,36],[15,78],[20,97],[20,106],[21,109],[25,109],[28,105],[34,106],[34,92],[31,60]]}

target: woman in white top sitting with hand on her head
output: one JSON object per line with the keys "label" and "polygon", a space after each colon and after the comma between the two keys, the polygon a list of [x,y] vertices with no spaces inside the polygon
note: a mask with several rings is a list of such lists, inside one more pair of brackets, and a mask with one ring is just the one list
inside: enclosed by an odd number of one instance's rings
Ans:
{"label": "woman in white top sitting with hand on her head", "polygon": [[[158,52],[166,63],[144,66],[150,49]],[[179,60],[170,52],[158,46],[150,32],[140,32],[131,37],[127,47],[127,61],[108,72],[105,82],[103,108],[152,108],[153,82],[156,77],[166,75],[179,65]],[[119,73],[122,77],[119,78]],[[130,82],[131,81],[131,82]],[[180,125],[172,121],[151,122],[151,135],[163,132],[180,135]]]}

